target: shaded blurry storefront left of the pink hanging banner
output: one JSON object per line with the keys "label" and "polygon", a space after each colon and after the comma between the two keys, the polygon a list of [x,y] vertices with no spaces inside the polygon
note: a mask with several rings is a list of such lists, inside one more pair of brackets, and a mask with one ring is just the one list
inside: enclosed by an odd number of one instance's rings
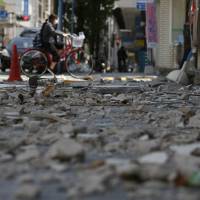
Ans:
{"label": "shaded blurry storefront left of the pink hanging banner", "polygon": [[[140,1],[141,2],[141,1]],[[123,1],[116,3],[114,9],[113,28],[113,50],[112,64],[117,66],[117,51],[124,46],[128,53],[127,65],[134,68],[138,65],[139,70],[144,71],[144,57],[146,51],[145,36],[145,1],[137,4],[137,0]]]}

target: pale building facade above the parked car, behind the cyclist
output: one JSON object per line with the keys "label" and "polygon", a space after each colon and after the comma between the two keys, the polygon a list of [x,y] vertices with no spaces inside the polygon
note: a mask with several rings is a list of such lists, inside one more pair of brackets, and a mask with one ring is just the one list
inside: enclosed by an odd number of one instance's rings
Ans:
{"label": "pale building facade above the parked car, behind the cyclist", "polygon": [[7,13],[6,18],[0,16],[1,46],[24,28],[40,27],[54,6],[55,0],[1,0],[1,13]]}

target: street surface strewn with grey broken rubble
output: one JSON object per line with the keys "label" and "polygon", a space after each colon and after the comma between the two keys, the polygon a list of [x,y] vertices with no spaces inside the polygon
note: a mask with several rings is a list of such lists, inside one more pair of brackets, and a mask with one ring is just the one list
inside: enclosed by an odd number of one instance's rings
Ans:
{"label": "street surface strewn with grey broken rubble", "polygon": [[0,199],[199,200],[199,86],[0,79]]}

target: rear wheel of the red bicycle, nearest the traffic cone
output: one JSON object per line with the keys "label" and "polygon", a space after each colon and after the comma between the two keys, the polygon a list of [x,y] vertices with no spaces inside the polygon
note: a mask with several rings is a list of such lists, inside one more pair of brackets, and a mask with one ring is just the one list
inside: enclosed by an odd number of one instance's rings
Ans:
{"label": "rear wheel of the red bicycle, nearest the traffic cone", "polygon": [[28,50],[20,58],[21,71],[28,77],[42,76],[47,67],[48,59],[45,53],[38,49]]}

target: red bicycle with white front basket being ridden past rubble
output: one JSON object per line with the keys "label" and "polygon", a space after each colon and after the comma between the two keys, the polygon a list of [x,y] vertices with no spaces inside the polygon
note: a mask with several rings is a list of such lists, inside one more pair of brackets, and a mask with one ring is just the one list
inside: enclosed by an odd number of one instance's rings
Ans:
{"label": "red bicycle with white front basket being ridden past rubble", "polygon": [[[84,78],[93,72],[93,59],[83,48],[84,34],[79,36],[66,34],[65,45],[60,54],[60,62],[64,62],[65,70],[74,78]],[[52,62],[50,53],[42,48],[30,48],[20,58],[20,68],[28,77],[41,77],[49,71]]]}

